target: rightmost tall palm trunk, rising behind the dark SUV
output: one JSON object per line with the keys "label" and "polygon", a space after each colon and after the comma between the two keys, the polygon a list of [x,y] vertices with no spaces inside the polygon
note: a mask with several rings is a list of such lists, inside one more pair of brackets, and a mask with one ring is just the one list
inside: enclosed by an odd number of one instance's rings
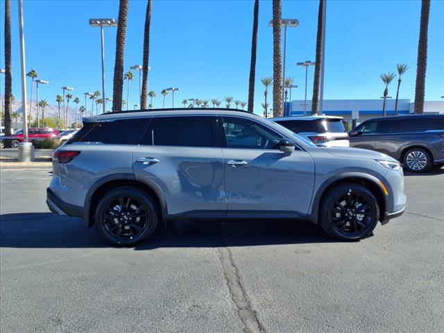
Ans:
{"label": "rightmost tall palm trunk, rising behind the dark SUV", "polygon": [[419,29],[418,60],[416,63],[415,113],[424,112],[425,72],[427,70],[427,39],[429,30],[430,0],[422,0]]}

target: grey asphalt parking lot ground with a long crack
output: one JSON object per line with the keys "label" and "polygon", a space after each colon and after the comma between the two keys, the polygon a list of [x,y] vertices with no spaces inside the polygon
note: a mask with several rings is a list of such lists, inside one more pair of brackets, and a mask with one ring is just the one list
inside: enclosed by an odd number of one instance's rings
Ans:
{"label": "grey asphalt parking lot ground with a long crack", "polygon": [[136,248],[49,213],[49,171],[0,171],[2,333],[444,332],[444,169],[406,176],[406,213],[364,241],[180,222]]}

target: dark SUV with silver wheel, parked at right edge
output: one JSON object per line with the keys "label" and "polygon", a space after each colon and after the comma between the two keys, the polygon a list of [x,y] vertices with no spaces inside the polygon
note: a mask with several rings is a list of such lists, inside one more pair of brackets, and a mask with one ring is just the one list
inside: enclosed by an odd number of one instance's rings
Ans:
{"label": "dark SUV with silver wheel, parked at right edge", "polygon": [[395,157],[411,172],[444,164],[444,114],[370,119],[349,135],[350,146]]}

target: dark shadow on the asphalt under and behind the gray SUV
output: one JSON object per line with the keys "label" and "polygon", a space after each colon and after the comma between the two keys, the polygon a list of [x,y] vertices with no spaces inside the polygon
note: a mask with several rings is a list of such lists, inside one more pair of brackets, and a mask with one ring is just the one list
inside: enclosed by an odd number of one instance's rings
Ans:
{"label": "dark shadow on the asphalt under and behind the gray SUV", "polygon": [[[305,221],[194,222],[157,225],[135,250],[330,243],[317,225]],[[51,213],[0,215],[0,248],[112,247],[81,219]]]}

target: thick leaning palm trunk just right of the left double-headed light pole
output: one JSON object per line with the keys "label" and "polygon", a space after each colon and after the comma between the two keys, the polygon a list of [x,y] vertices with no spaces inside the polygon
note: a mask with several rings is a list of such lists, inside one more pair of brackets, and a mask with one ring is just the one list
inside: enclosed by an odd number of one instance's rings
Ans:
{"label": "thick leaning palm trunk just right of the left double-headed light pole", "polygon": [[116,56],[114,62],[114,81],[112,89],[112,110],[122,110],[123,93],[123,53],[125,52],[126,22],[128,20],[129,0],[119,0],[119,23],[116,35]]}

